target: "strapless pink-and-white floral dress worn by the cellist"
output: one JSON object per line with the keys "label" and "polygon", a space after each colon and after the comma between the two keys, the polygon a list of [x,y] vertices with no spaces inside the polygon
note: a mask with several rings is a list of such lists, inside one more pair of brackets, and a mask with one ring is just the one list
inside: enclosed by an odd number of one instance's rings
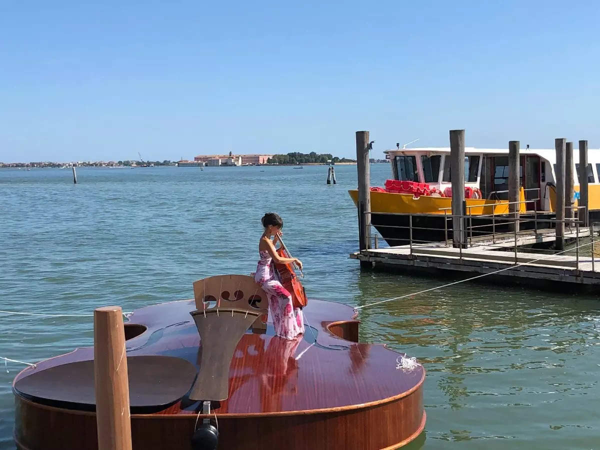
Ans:
{"label": "strapless pink-and-white floral dress worn by the cellist", "polygon": [[269,312],[275,334],[293,339],[304,333],[304,317],[300,308],[292,307],[292,295],[281,285],[269,252],[260,250],[260,261],[254,274],[254,281],[260,284],[269,297]]}

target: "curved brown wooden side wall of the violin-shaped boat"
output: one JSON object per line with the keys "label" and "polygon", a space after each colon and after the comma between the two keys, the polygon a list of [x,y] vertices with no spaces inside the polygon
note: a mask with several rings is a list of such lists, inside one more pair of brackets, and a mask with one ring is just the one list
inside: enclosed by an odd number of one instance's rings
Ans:
{"label": "curved brown wooden side wall of the violin-shaped boat", "polygon": [[[95,415],[40,406],[17,397],[15,442],[23,450],[97,449]],[[202,416],[201,416],[202,417]],[[425,426],[422,388],[407,397],[364,410],[301,416],[218,416],[220,450],[377,450],[415,439]],[[68,424],[59,433],[47,424]],[[191,450],[195,415],[131,415],[134,450]],[[27,432],[29,430],[29,432]],[[35,433],[34,431],[35,430]],[[285,443],[285,444],[283,444]]]}

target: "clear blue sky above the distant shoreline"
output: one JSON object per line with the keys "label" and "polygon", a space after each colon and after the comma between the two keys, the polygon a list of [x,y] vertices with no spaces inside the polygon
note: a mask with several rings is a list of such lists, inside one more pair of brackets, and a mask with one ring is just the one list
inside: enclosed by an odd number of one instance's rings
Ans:
{"label": "clear blue sky above the distant shoreline", "polygon": [[[0,1],[0,161],[600,147],[595,1]],[[576,147],[577,145],[575,145]]]}

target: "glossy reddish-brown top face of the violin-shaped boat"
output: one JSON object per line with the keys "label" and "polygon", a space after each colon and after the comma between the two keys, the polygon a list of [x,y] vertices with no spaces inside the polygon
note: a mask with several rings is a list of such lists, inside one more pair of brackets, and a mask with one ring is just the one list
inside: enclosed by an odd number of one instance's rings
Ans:
{"label": "glossy reddish-brown top face of the violin-shaped boat", "polygon": [[[193,301],[179,301],[134,311],[130,321],[143,323],[148,330],[126,342],[127,356],[160,353],[187,359],[199,368],[200,340],[190,315],[195,309]],[[422,367],[403,373],[396,369],[397,352],[380,345],[352,343],[328,332],[330,323],[340,322],[340,318],[352,320],[353,315],[346,305],[311,300],[305,316],[315,328],[316,344],[308,327],[299,341],[274,336],[270,324],[266,334],[245,334],[230,365],[229,399],[221,402],[217,413],[352,408],[405,395],[418,386],[424,377]],[[16,380],[46,367],[85,359],[93,359],[93,349],[41,362],[35,369],[23,370]],[[180,413],[194,411],[184,408]]]}

